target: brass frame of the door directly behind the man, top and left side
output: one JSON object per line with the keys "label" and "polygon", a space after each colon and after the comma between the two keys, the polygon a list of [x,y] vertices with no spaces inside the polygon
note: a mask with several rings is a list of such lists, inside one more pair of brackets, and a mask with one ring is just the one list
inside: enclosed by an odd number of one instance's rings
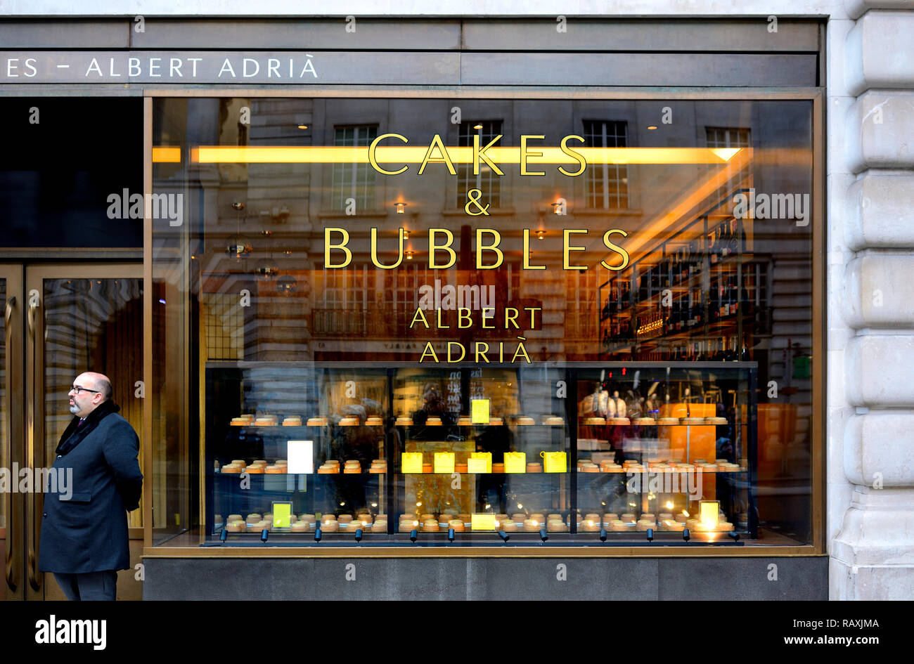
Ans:
{"label": "brass frame of the door directly behind the man, top and left side", "polygon": [[[27,308],[26,325],[26,450],[25,461],[29,468],[46,465],[45,457],[45,366],[44,366],[44,315],[41,307],[45,279],[143,279],[143,266],[138,263],[105,264],[53,264],[27,266],[25,293]],[[35,298],[37,291],[37,299]],[[26,543],[26,598],[44,599],[44,574],[38,571],[37,551],[40,544],[44,496],[36,491],[27,497],[25,537]],[[131,536],[142,538],[142,528],[132,528]]]}

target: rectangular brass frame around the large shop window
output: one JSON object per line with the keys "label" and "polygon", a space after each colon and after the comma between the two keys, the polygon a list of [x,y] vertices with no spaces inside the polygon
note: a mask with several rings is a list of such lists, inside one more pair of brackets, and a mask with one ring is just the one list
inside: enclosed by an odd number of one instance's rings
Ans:
{"label": "rectangular brass frame around the large shop window", "polygon": [[[824,46],[822,47],[821,53],[825,53]],[[824,306],[826,303],[826,282],[825,282],[825,206],[827,205],[825,197],[825,127],[826,127],[826,117],[825,117],[825,106],[824,106],[824,85],[819,87],[797,87],[797,88],[741,88],[738,90],[733,89],[720,89],[720,90],[709,90],[705,89],[696,89],[694,87],[685,87],[679,90],[665,90],[665,89],[656,89],[656,88],[632,88],[632,87],[606,87],[606,88],[589,88],[586,91],[579,90],[569,90],[568,88],[563,88],[560,86],[539,86],[535,89],[530,89],[525,86],[372,86],[372,85],[363,85],[363,86],[315,86],[314,88],[308,88],[306,90],[301,90],[298,88],[293,88],[291,90],[282,90],[273,88],[260,88],[258,86],[243,87],[239,86],[238,88],[227,88],[222,86],[212,86],[212,87],[201,87],[201,88],[182,88],[179,86],[171,87],[164,86],[161,88],[144,88],[143,89],[143,188],[145,195],[151,195],[153,192],[153,106],[152,101],[154,98],[201,98],[201,97],[212,97],[212,98],[282,98],[282,99],[293,99],[293,98],[353,98],[353,99],[370,99],[370,98],[387,98],[394,96],[394,89],[396,89],[396,96],[401,99],[499,99],[499,100],[551,100],[551,99],[569,99],[573,97],[575,100],[632,100],[632,101],[641,101],[641,100],[701,100],[701,101],[715,101],[715,100],[749,100],[749,101],[765,101],[765,100],[803,100],[811,102],[812,109],[812,182],[813,182],[813,218],[811,220],[812,228],[812,256],[811,256],[811,267],[813,270],[813,319],[812,319],[812,343],[813,343],[813,358],[816,358],[813,362],[813,390],[812,390],[812,404],[811,409],[813,415],[811,416],[811,422],[813,425],[812,439],[811,439],[811,454],[813,462],[811,465],[811,474],[810,478],[810,488],[812,490],[811,497],[811,537],[809,544],[798,544],[796,546],[745,546],[738,547],[734,549],[727,549],[725,551],[720,551],[719,549],[710,551],[710,550],[698,550],[696,547],[664,547],[664,551],[660,552],[659,549],[644,549],[644,550],[621,550],[615,549],[611,553],[607,553],[605,549],[600,549],[598,547],[586,547],[581,550],[579,553],[572,553],[576,551],[572,547],[569,549],[563,549],[562,555],[580,555],[580,556],[593,556],[593,557],[612,557],[614,555],[625,555],[625,556],[645,556],[651,557],[655,555],[679,555],[684,557],[691,557],[695,555],[717,555],[717,556],[763,556],[763,555],[827,555],[827,548],[825,542],[825,515],[826,515],[826,450],[824,447],[825,439],[825,430],[826,430],[826,410],[827,400],[826,400],[826,351],[827,351],[827,335],[826,335],[826,324],[824,315]],[[182,247],[182,251],[189,253],[186,250],[186,243]],[[153,362],[152,362],[152,287],[153,287],[153,237],[152,237],[152,220],[147,216],[144,218],[144,228],[143,228],[143,266],[145,274],[145,283],[144,283],[144,293],[146,300],[146,318],[144,321],[145,329],[145,339],[148,344],[146,353],[143,358],[143,380],[146,382],[146,385],[153,385]],[[187,364],[186,362],[184,363]],[[188,369],[189,371],[189,369]],[[184,376],[186,381],[189,376]],[[200,395],[199,399],[201,403],[205,398],[203,394],[205,383],[201,380],[200,382]],[[188,395],[188,399],[193,398],[193,395]],[[152,460],[152,434],[153,434],[153,423],[152,423],[152,406],[146,404],[146,416],[143,418],[143,435],[144,439],[150,441],[148,446],[147,460]],[[202,414],[201,414],[202,416]],[[184,418],[185,425],[181,429],[181,436],[185,437],[186,433],[186,418]],[[201,429],[202,430],[202,429]],[[201,434],[202,436],[202,434]],[[183,441],[182,441],[183,442]],[[201,454],[204,448],[204,441],[200,441]],[[180,459],[182,463],[186,463],[186,459]],[[152,473],[152,467],[149,466],[150,473]],[[198,486],[198,500],[199,504],[202,506],[206,504],[205,496],[205,477],[204,473],[206,469],[204,464],[200,464],[199,475],[197,477],[197,486]],[[152,511],[153,509],[153,491],[152,491],[152,482],[145,482],[144,488],[146,492],[144,493],[144,498],[146,500],[146,510]],[[207,552],[206,550],[200,550],[197,547],[199,544],[203,543],[206,540],[206,536],[202,529],[197,532],[197,538],[193,543],[190,543],[186,546],[154,546],[153,545],[153,531],[152,531],[152,520],[145,519],[143,521],[143,526],[145,529],[145,538],[144,538],[144,548],[143,548],[143,557],[185,557],[185,556],[237,556],[237,557],[246,557],[250,555],[250,551],[243,550],[240,548],[232,548],[220,551],[218,553]],[[195,550],[196,549],[196,550]],[[260,550],[258,550],[260,551]],[[372,553],[368,553],[367,550],[358,550],[358,549],[333,549],[332,547],[322,547],[320,551],[314,548],[294,548],[294,547],[282,547],[281,550],[276,550],[275,553],[260,553],[260,556],[275,556],[275,557],[322,557],[324,555],[339,555],[339,556],[349,556],[349,557],[370,557]],[[419,553],[415,549],[409,547],[397,548],[391,547],[385,549],[384,556],[387,557],[410,557],[410,556],[421,556],[421,555],[441,555],[441,556],[452,556],[452,557],[473,557],[474,555],[489,555],[489,556],[499,556],[499,557],[514,557],[519,556],[523,557],[524,555],[529,555],[526,551],[518,549],[505,549],[503,547],[494,547],[491,551],[484,551],[481,549],[444,549],[436,550],[430,553]],[[534,556],[537,554],[534,553]]]}

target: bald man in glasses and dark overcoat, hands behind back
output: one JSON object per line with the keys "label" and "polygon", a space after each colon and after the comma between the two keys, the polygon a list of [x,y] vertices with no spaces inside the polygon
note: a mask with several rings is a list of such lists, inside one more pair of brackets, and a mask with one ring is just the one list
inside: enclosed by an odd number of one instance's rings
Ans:
{"label": "bald man in glasses and dark overcoat, hands behind back", "polygon": [[73,420],[53,468],[72,473],[66,493],[45,495],[38,569],[57,578],[70,600],[116,598],[117,571],[130,569],[127,512],[139,507],[140,440],[112,401],[112,382],[86,372],[73,381]]}

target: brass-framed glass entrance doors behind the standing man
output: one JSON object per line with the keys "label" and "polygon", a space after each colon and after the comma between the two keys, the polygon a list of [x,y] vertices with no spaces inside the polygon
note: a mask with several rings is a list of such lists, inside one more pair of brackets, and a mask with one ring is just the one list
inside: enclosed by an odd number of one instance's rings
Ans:
{"label": "brass-framed glass entrance doors behind the standing man", "polygon": [[[138,434],[142,432],[143,391],[137,383],[143,377],[142,273],[142,265],[115,264],[14,266],[0,271],[0,307],[5,311],[0,467],[18,468],[35,478],[37,471],[51,466],[72,418],[69,388],[85,371],[112,379],[112,399],[121,406],[121,415]],[[142,467],[142,452],[140,462]],[[37,569],[42,491],[34,483],[31,492],[2,495],[7,598],[64,598],[51,575]],[[141,515],[137,510],[128,516],[132,564],[142,553]],[[118,598],[141,596],[135,572],[121,572]]]}

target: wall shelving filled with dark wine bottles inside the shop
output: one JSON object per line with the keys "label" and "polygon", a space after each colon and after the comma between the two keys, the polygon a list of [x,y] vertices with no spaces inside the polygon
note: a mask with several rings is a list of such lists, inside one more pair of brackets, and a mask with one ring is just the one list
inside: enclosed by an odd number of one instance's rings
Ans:
{"label": "wall shelving filled with dark wine bottles inside the shop", "polygon": [[728,198],[600,285],[607,359],[748,360],[768,329],[768,262]]}

